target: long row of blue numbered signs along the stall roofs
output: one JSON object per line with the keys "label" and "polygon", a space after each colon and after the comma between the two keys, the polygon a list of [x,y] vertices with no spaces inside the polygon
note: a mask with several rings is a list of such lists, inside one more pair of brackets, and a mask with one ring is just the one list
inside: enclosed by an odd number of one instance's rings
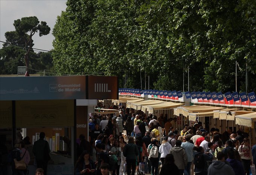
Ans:
{"label": "long row of blue numbered signs along the stall roofs", "polygon": [[222,94],[222,92],[181,92],[181,91],[158,91],[158,90],[152,90],[152,89],[148,89],[148,90],[142,90],[142,89],[130,89],[130,88],[120,88],[119,89],[119,94],[131,94],[131,95],[151,95],[152,97],[167,97],[167,98],[181,98],[183,97],[183,94],[185,95],[185,97],[188,98],[192,98],[192,99],[202,99],[202,100],[224,100],[224,98],[226,98],[226,101],[239,101],[241,100],[242,102],[245,101],[250,101],[251,103],[256,101],[256,95],[255,92],[250,92],[250,93],[238,93],[238,92],[226,92],[225,94]]}

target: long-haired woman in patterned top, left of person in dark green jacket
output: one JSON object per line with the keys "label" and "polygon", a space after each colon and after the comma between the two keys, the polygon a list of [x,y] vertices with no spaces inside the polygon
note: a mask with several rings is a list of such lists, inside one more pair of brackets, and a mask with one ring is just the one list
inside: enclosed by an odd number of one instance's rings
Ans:
{"label": "long-haired woman in patterned top, left of person in dark green jacket", "polygon": [[110,149],[110,155],[116,155],[117,162],[113,167],[113,175],[119,175],[119,169],[120,169],[120,159],[121,159],[121,147],[119,145],[119,140],[114,141],[114,145],[112,145]]}

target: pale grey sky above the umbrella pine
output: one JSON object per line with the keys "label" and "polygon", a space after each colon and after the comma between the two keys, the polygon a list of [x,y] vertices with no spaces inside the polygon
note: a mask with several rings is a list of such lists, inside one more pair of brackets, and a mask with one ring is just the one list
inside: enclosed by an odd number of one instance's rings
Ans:
{"label": "pale grey sky above the umbrella pine", "polygon": [[[52,29],[55,25],[57,16],[61,11],[66,10],[67,0],[0,0],[0,41],[6,41],[5,32],[14,31],[14,20],[23,17],[36,16],[38,21],[46,21],[51,28],[48,35],[39,36],[35,33],[32,37],[34,48],[50,50],[53,49]],[[3,43],[0,42],[0,48]]]}

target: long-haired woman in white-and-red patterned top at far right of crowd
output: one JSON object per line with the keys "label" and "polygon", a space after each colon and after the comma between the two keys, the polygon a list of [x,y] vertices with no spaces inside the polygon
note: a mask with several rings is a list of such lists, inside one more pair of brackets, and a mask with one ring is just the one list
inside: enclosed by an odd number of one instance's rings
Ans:
{"label": "long-haired woman in white-and-red patterned top at far right of crowd", "polygon": [[245,175],[249,175],[250,165],[253,160],[249,144],[250,140],[248,138],[244,138],[243,142],[238,148],[238,152],[242,160],[242,165],[244,167]]}

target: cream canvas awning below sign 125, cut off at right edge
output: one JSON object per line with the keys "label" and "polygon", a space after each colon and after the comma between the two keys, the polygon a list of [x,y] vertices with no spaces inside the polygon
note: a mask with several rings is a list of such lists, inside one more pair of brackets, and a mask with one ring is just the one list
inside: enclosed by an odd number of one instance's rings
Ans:
{"label": "cream canvas awning below sign 125, cut off at right edge", "polygon": [[247,114],[237,115],[236,124],[246,127],[254,127],[253,122],[256,121],[256,112],[251,112]]}

